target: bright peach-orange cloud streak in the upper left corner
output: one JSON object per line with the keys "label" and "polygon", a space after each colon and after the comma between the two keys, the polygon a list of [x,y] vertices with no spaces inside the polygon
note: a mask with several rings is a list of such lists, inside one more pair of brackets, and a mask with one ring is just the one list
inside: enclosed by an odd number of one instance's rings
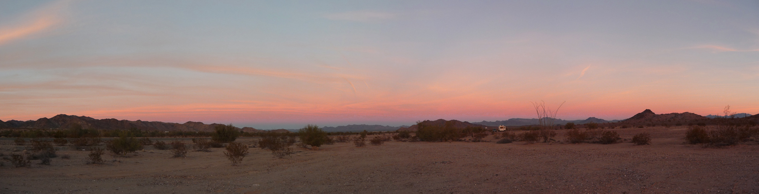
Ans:
{"label": "bright peach-orange cloud streak in the upper left corner", "polygon": [[29,13],[20,24],[0,27],[0,45],[23,39],[61,23],[60,12],[68,7],[68,1],[53,2]]}

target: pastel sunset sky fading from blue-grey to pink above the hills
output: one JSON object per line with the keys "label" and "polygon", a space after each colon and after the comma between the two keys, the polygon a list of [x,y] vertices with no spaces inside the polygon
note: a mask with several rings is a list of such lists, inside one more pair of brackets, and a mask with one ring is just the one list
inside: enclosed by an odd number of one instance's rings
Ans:
{"label": "pastel sunset sky fading from blue-grey to pink above the hills", "polygon": [[757,96],[756,0],[0,0],[0,120],[613,120]]}

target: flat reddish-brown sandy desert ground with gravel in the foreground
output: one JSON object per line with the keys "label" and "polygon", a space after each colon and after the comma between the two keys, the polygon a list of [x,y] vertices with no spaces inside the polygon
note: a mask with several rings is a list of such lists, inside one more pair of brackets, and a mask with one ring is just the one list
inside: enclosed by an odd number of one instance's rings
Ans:
{"label": "flat reddish-brown sandy desert ground with gravel in the foreground", "polygon": [[[757,142],[712,148],[683,144],[684,127],[615,130],[626,139],[647,131],[652,145],[496,144],[492,136],[359,148],[347,142],[285,158],[254,148],[237,166],[223,149],[171,158],[146,146],[85,164],[89,152],[57,147],[71,159],[31,167],[4,160],[0,193],[759,193]],[[0,143],[5,155],[23,149]]]}

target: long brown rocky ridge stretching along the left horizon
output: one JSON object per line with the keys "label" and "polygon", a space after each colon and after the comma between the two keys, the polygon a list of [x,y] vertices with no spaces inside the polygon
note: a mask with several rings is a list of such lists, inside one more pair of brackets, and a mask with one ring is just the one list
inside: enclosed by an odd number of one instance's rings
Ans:
{"label": "long brown rocky ridge stretching along the left horizon", "polygon": [[[157,131],[213,131],[219,124],[203,124],[201,122],[187,121],[184,124],[164,123],[159,121],[142,120],[116,120],[113,118],[94,119],[92,117],[58,114],[55,117],[43,117],[38,120],[8,120],[0,121],[0,127],[4,128],[33,128],[33,129],[68,129],[74,124],[80,124],[83,128],[96,130],[128,130],[137,128],[140,130]],[[253,127],[244,127],[246,132],[258,132]]]}

